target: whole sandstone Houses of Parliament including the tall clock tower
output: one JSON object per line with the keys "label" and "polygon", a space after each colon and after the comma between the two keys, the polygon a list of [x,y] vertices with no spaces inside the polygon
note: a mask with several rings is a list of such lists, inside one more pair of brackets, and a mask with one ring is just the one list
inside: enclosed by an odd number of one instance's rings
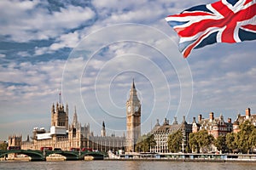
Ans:
{"label": "whole sandstone Houses of Parliament including the tall clock tower", "polygon": [[22,150],[40,150],[41,147],[72,150],[73,148],[88,148],[91,150],[125,150],[135,151],[137,139],[141,136],[141,103],[137,98],[134,81],[131,83],[130,97],[126,102],[126,137],[107,136],[105,122],[102,122],[100,136],[94,136],[90,124],[81,126],[76,109],[73,121],[68,124],[69,108],[61,102],[51,106],[51,127],[47,132],[44,128],[34,127],[32,138],[21,141],[22,136],[9,136],[9,146],[19,145]]}

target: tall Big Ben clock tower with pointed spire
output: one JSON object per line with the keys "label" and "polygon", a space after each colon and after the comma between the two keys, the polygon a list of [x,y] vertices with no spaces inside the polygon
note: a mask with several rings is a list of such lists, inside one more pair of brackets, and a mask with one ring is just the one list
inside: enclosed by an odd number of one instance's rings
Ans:
{"label": "tall Big Ben clock tower with pointed spire", "polygon": [[126,102],[126,151],[135,151],[137,139],[141,136],[141,102],[137,99],[134,80],[130,98]]}

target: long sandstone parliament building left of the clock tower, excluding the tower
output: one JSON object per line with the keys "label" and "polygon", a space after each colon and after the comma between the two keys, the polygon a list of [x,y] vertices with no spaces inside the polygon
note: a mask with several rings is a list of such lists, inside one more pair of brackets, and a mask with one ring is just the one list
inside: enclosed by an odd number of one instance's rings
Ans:
{"label": "long sandstone parliament building left of the clock tower, excluding the tower", "polygon": [[[73,114],[73,122],[68,125],[68,105],[66,109],[62,104],[52,105],[51,127],[46,132],[44,127],[33,129],[32,141],[22,142],[22,150],[40,150],[41,147],[52,147],[61,150],[72,148],[87,148],[90,150],[119,150],[124,149],[125,136],[106,136],[105,123],[102,124],[102,136],[94,136],[90,132],[90,124],[81,126],[78,121],[76,108]],[[20,138],[21,141],[21,138]]]}

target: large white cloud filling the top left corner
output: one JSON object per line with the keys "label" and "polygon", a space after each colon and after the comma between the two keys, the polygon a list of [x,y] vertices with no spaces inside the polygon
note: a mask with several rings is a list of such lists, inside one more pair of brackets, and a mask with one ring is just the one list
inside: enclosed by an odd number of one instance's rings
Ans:
{"label": "large white cloud filling the top left corner", "polygon": [[1,35],[16,42],[59,37],[67,29],[74,29],[95,17],[89,7],[72,5],[49,13],[39,1],[1,1]]}

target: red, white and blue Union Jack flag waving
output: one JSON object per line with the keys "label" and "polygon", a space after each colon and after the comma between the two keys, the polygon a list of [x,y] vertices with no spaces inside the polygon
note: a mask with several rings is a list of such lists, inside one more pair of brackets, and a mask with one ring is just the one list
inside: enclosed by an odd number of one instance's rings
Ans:
{"label": "red, white and blue Union Jack flag waving", "polygon": [[193,48],[215,42],[242,42],[256,39],[256,0],[221,0],[166,17],[177,31],[184,58]]}

